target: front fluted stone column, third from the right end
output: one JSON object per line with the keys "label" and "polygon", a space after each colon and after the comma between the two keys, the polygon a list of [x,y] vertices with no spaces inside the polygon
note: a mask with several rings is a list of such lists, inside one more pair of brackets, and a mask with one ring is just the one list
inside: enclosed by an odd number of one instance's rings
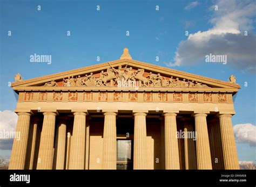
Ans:
{"label": "front fluted stone column, third from the right end", "polygon": [[165,169],[180,169],[176,113],[165,113]]}

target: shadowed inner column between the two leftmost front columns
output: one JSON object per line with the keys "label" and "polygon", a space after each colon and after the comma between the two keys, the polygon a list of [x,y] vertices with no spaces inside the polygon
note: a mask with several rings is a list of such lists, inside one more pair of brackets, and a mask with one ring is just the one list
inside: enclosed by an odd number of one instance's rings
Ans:
{"label": "shadowed inner column between the two leftmost front columns", "polygon": [[26,168],[25,169],[33,169],[34,157],[36,152],[36,140],[38,136],[38,121],[39,121],[38,117],[32,118],[31,120],[28,149],[26,151]]}

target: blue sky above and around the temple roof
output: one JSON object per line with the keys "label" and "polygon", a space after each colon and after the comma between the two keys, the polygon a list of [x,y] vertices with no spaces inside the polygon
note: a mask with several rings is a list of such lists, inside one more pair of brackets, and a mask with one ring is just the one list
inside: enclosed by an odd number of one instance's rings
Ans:
{"label": "blue sky above and around the temple roof", "polygon": [[[8,87],[8,82],[14,81],[16,73],[29,79],[117,60],[123,48],[128,47],[134,60],[171,66],[173,69],[223,81],[227,81],[231,74],[235,75],[241,89],[235,98],[237,114],[232,118],[233,125],[255,126],[255,71],[248,71],[248,67],[255,69],[255,54],[250,51],[255,51],[255,44],[250,42],[255,40],[255,15],[246,10],[246,6],[253,1],[245,1],[244,4],[235,1],[167,0],[0,2],[0,111],[13,111],[16,107],[16,98]],[[212,9],[216,4],[219,5],[218,12]],[[38,5],[41,6],[41,11],[37,10]],[[100,6],[100,11],[96,10],[97,5]],[[157,5],[159,11],[156,10]],[[241,11],[241,17],[230,18],[226,15],[237,10]],[[235,32],[222,25],[234,28]],[[202,58],[204,55],[197,53],[202,50],[193,43],[193,38],[191,43],[185,35],[185,31],[194,34],[212,29],[214,32],[221,30],[224,33],[217,35],[217,43],[210,38],[212,48],[208,52],[219,52],[224,47],[220,52],[231,56],[226,65],[205,63]],[[232,42],[239,41],[236,31],[243,33],[245,30],[250,33],[248,37],[252,37],[249,41],[242,39],[245,41],[242,45],[245,46],[238,45],[235,49],[225,51],[228,48],[225,47],[226,44],[219,45],[218,37],[227,37],[225,40],[232,38]],[[8,31],[11,31],[11,36],[8,36]],[[67,36],[67,31],[71,32],[70,36]],[[126,31],[130,32],[129,36],[126,36]],[[203,34],[207,36],[207,33]],[[231,34],[231,37],[227,34]],[[191,45],[192,48],[188,48],[188,51],[196,50],[196,53],[193,52],[197,54],[196,57],[191,53],[187,54],[186,47]],[[246,46],[249,47],[244,52]],[[204,44],[200,47],[206,48]],[[171,64],[177,63],[177,52],[186,60],[173,66]],[[34,53],[51,55],[52,63],[31,63],[30,55]],[[235,54],[239,54],[238,57]],[[100,57],[100,62],[96,61],[97,56]],[[156,56],[159,56],[158,62]],[[239,64],[238,61],[243,63]],[[245,82],[247,87],[244,86]],[[253,143],[253,146],[246,141],[237,143],[239,160],[255,162],[255,142]],[[2,153],[9,152],[2,150]]]}

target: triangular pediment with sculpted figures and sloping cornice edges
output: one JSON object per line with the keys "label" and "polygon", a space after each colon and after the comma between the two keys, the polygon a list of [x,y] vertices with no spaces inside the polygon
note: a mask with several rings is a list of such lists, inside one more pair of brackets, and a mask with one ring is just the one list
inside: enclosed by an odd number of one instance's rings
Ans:
{"label": "triangular pediment with sculpted figures and sloping cornice edges", "polygon": [[[119,68],[120,67],[120,68]],[[118,82],[119,81],[119,82]],[[60,88],[109,88],[118,87],[118,83],[137,81],[143,88],[161,89],[217,89],[235,91],[239,84],[215,80],[204,76],[186,73],[175,69],[156,66],[131,59],[120,59],[96,64],[89,67],[63,71],[29,80],[17,80],[12,83],[15,90],[23,87],[29,89]]]}

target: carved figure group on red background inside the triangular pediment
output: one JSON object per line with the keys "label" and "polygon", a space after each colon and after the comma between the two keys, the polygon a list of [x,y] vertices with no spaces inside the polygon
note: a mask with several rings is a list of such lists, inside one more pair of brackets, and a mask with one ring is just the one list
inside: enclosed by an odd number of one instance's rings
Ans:
{"label": "carved figure group on red background inside the triangular pediment", "polygon": [[76,77],[69,76],[63,78],[62,83],[57,84],[55,81],[45,83],[45,87],[107,87],[117,86],[118,82],[132,82],[138,81],[141,87],[171,87],[171,88],[206,88],[206,84],[193,80],[179,80],[178,77],[174,78],[161,76],[160,73],[154,74],[152,72],[146,73],[145,69],[132,67],[118,66],[117,69],[110,67],[100,71],[100,73],[94,75],[93,73],[86,74],[84,76],[78,75]]}

